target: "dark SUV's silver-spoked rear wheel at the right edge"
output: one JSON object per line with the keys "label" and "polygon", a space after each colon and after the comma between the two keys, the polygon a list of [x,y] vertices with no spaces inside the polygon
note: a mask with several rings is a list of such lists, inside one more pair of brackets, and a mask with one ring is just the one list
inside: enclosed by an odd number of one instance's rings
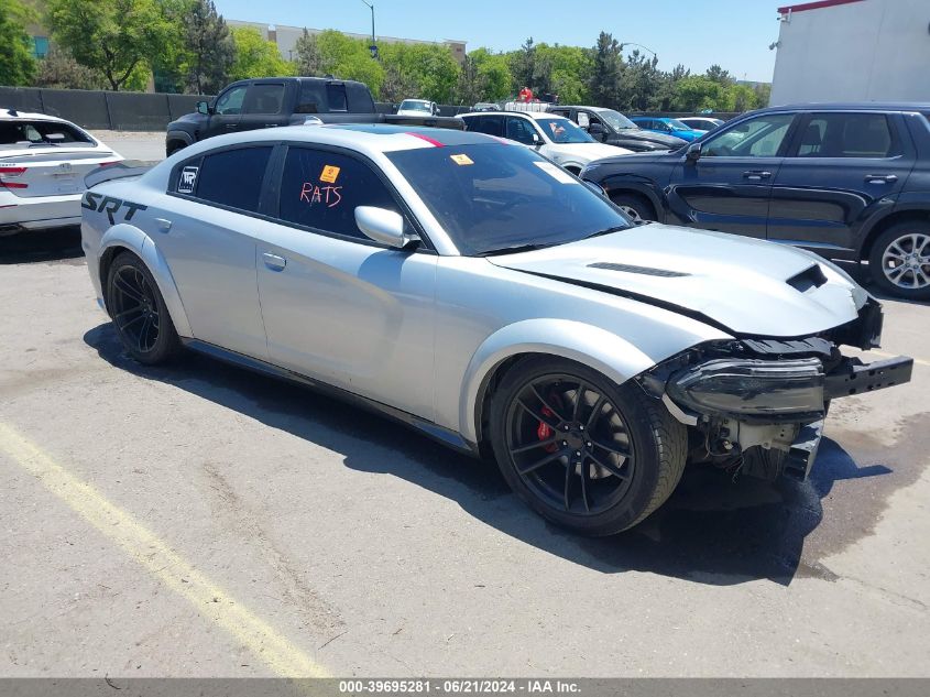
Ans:
{"label": "dark SUV's silver-spoked rear wheel at the right edge", "polygon": [[930,225],[906,220],[885,230],[872,246],[868,272],[890,295],[930,300]]}

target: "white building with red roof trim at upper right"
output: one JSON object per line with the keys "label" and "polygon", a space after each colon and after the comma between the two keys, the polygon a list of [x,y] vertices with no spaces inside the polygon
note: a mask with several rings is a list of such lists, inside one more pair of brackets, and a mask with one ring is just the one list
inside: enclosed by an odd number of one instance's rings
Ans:
{"label": "white building with red roof trim at upper right", "polygon": [[770,105],[930,101],[929,0],[820,0],[778,13]]}

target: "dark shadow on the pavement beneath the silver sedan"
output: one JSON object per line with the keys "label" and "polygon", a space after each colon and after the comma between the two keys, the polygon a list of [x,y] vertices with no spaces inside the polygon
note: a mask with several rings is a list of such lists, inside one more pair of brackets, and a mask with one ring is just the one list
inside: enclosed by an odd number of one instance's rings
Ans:
{"label": "dark shadow on the pavement beneath the silver sedan", "polygon": [[[455,453],[379,414],[195,353],[166,367],[141,366],[124,353],[110,324],[90,329],[84,340],[121,370],[322,446],[352,469],[405,479],[507,535],[604,574],[645,571],[715,586],[757,579],[788,585],[797,576],[835,580],[805,555],[808,535],[823,519],[822,500],[839,480],[891,471],[884,465],[858,467],[829,439],[807,482],[734,481],[723,470],[689,468],[669,501],[643,524],[613,537],[587,538],[533,513],[511,493],[495,465]],[[831,541],[829,552],[854,540]]]}

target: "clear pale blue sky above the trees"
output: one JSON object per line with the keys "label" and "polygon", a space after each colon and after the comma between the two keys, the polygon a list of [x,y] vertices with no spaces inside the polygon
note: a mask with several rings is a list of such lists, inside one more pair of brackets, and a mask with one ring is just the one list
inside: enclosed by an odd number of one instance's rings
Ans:
{"label": "clear pale blue sky above the trees", "polygon": [[[362,0],[214,0],[229,20],[371,33]],[[375,33],[513,51],[537,43],[593,46],[601,31],[656,53],[659,68],[720,64],[736,79],[772,81],[779,0],[373,0]],[[632,50],[632,46],[625,52]],[[644,52],[645,53],[645,52]],[[647,54],[648,55],[648,54]]]}

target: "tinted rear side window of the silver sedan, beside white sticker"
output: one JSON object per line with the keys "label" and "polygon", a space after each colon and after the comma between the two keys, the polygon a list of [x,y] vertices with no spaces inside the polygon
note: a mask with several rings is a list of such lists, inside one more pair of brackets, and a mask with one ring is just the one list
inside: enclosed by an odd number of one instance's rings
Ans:
{"label": "tinted rear side window of the silver sedan, beside white sticker", "polygon": [[[271,151],[271,145],[262,145],[206,154],[199,171],[194,173],[195,195],[211,204],[258,213]],[[184,177],[182,171],[178,186],[184,184]]]}

